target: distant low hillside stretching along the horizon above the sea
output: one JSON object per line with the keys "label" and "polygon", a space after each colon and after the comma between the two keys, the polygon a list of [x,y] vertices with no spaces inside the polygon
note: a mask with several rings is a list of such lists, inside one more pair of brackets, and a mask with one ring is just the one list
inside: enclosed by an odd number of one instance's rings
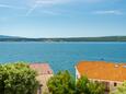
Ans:
{"label": "distant low hillside stretching along the horizon above the sea", "polygon": [[69,37],[69,38],[23,38],[0,35],[0,42],[126,42],[126,36]]}

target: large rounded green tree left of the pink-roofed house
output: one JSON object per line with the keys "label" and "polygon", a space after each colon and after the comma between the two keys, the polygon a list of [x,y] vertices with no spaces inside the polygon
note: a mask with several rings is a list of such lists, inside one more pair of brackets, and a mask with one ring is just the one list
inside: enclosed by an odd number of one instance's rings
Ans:
{"label": "large rounded green tree left of the pink-roofed house", "polygon": [[0,94],[35,94],[36,72],[25,63],[0,64]]}

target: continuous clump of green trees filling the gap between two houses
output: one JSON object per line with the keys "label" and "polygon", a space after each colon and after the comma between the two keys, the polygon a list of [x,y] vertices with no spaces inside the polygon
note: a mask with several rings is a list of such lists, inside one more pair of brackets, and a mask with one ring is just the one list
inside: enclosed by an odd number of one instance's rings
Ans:
{"label": "continuous clump of green trees filling the gap between two houses", "polygon": [[77,82],[68,71],[58,72],[47,83],[51,94],[104,94],[104,86],[82,77]]}

